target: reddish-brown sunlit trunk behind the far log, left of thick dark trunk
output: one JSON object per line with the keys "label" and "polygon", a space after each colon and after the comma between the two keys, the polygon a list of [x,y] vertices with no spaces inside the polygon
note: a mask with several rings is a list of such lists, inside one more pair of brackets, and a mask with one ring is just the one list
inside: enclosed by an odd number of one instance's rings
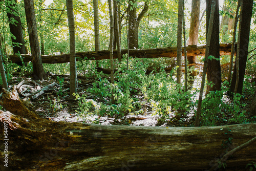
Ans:
{"label": "reddish-brown sunlit trunk behind the far log, left of thick dark trunk", "polygon": [[[187,46],[198,44],[199,17],[201,0],[192,0],[192,9],[190,17],[190,28]],[[188,64],[196,63],[197,56],[187,56]]]}

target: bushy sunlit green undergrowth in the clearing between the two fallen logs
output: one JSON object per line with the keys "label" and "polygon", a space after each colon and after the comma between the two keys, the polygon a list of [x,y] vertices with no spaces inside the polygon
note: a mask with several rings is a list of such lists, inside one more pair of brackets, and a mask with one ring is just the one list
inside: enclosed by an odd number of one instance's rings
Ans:
{"label": "bushy sunlit green undergrowth in the clearing between the two fallen logs", "polygon": [[[93,99],[87,95],[81,97],[76,94],[79,101],[78,113],[86,118],[88,115],[121,115],[142,114],[142,105],[150,104],[152,112],[163,118],[169,118],[171,113],[189,111],[194,108],[196,92],[182,92],[182,87],[176,86],[172,74],[166,74],[161,69],[159,73],[146,75],[148,66],[143,59],[130,59],[129,70],[126,70],[126,60],[120,63],[114,85],[108,79],[99,78],[88,89]],[[115,102],[111,102],[111,92],[114,91]],[[178,112],[179,111],[179,112]]]}

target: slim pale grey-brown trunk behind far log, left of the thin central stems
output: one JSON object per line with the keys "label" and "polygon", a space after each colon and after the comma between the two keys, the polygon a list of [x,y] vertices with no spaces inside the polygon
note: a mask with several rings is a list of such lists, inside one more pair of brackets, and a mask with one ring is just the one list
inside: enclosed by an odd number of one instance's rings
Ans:
{"label": "slim pale grey-brown trunk behind far log, left of the thin central stems", "polygon": [[94,12],[94,40],[95,40],[95,51],[100,50],[100,39],[99,39],[99,7],[98,0],[93,0],[93,12]]}

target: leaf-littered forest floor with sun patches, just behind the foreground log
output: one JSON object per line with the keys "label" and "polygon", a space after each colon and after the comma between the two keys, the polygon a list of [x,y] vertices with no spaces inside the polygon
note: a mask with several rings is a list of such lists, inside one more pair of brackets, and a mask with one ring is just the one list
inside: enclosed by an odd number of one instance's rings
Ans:
{"label": "leaf-littered forest floor with sun patches, just behind the foreground log", "polygon": [[[184,111],[180,111],[180,115],[170,114],[168,119],[162,120],[159,119],[159,115],[153,115],[152,109],[147,102],[144,103],[143,106],[143,113],[140,115],[131,115],[127,114],[124,116],[120,115],[113,115],[113,116],[98,116],[98,115],[90,115],[87,116],[85,120],[78,114],[78,101],[73,101],[69,99],[69,75],[52,75],[48,73],[48,79],[44,81],[36,81],[37,87],[39,86],[40,89],[48,86],[53,82],[59,83],[59,79],[57,77],[63,78],[61,82],[61,88],[55,87],[54,89],[50,89],[46,93],[40,95],[38,98],[31,100],[33,104],[33,109],[36,113],[46,119],[54,120],[54,121],[66,121],[66,122],[84,122],[84,123],[92,123],[92,120],[96,119],[96,122],[99,124],[105,125],[142,125],[142,126],[194,126],[195,123],[195,113],[187,113],[184,115]],[[106,76],[107,77],[107,76]],[[23,79],[30,78],[20,78],[15,77],[12,84],[18,84]],[[82,94],[87,94],[86,90],[88,88],[93,87],[93,82],[96,81],[95,77],[78,77],[78,90],[77,93],[82,96]],[[28,85],[27,85],[28,86]],[[33,88],[34,87],[34,88]],[[24,90],[23,88],[22,90]],[[27,90],[24,90],[20,97],[24,98],[24,94],[27,91],[33,91],[36,89],[33,83],[30,83],[29,87],[26,87]],[[60,91],[61,89],[61,91]],[[35,91],[35,90],[34,90]],[[92,96],[88,95],[87,98],[93,98]],[[244,120],[245,123],[248,122],[255,122],[256,118],[251,117],[249,115],[249,106],[252,101],[252,95],[244,95],[240,99],[241,103],[247,104],[246,106],[241,106],[241,111],[245,111],[244,113]],[[232,114],[225,115],[217,115],[219,119],[215,125],[229,125],[229,124],[236,124],[236,122],[229,122],[229,118],[232,117]]]}

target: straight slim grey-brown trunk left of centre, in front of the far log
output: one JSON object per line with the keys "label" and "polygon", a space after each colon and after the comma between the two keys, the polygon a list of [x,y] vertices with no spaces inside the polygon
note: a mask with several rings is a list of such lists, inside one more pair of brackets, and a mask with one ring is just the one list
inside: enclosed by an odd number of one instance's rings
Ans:
{"label": "straight slim grey-brown trunk left of centre, in front of the far log", "polygon": [[67,0],[67,14],[69,22],[69,41],[70,41],[70,97],[75,98],[77,74],[75,57],[75,19],[73,11],[73,0]]}

